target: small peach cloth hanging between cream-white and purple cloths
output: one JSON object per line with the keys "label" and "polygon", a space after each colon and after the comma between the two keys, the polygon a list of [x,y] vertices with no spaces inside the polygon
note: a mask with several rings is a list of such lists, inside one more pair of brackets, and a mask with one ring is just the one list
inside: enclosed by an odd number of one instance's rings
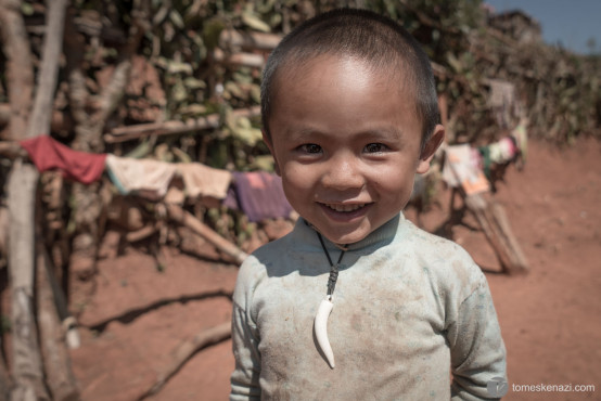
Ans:
{"label": "small peach cloth hanging between cream-white and purple cloths", "polygon": [[178,163],[177,171],[190,197],[202,195],[223,199],[232,180],[230,171],[212,168],[201,163]]}

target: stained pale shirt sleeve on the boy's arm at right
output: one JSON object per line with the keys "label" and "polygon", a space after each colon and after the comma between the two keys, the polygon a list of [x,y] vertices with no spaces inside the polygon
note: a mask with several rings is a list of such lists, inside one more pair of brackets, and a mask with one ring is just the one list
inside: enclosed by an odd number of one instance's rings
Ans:
{"label": "stained pale shirt sleeve on the boy's arm at right", "polygon": [[447,336],[453,376],[451,400],[498,399],[487,385],[498,378],[507,383],[506,348],[482,272],[475,289],[460,303]]}

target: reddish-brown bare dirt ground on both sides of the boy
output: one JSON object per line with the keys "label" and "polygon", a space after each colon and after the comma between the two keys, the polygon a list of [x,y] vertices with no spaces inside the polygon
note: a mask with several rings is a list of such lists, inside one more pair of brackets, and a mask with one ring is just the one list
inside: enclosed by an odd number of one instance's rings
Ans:
{"label": "reddish-brown bare dirt ground on both sides of the boy", "polygon": [[[532,142],[526,169],[511,167],[498,185],[496,198],[529,274],[499,274],[482,232],[452,229],[490,284],[508,349],[507,400],[601,400],[600,151],[591,139],[563,150]],[[440,206],[423,216],[426,229],[446,219],[448,198],[442,193]],[[138,399],[181,342],[229,321],[236,267],[172,248],[165,255],[164,272],[133,248],[101,260],[93,297],[72,305],[82,310],[82,346],[71,355],[84,400]],[[148,400],[225,400],[232,368],[231,342],[222,341],[197,352]],[[596,391],[525,392],[516,385],[594,385]]]}

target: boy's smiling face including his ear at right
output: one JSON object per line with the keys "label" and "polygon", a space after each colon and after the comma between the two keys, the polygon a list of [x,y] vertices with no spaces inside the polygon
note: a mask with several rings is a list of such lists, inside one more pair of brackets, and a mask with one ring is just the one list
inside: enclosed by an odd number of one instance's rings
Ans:
{"label": "boy's smiling face including his ear at right", "polygon": [[360,241],[397,215],[443,139],[437,126],[420,157],[414,90],[399,80],[329,55],[277,78],[266,141],[291,205],[334,243]]}

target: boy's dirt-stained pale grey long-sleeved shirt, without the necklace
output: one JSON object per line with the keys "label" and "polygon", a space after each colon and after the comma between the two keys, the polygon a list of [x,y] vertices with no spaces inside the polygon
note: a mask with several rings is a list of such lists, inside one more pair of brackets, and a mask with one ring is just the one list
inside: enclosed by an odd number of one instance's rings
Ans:
{"label": "boy's dirt-stained pale grey long-sleeved shirt, without the necklace", "polygon": [[353,244],[328,321],[333,370],[312,328],[329,272],[302,219],[242,264],[230,400],[493,398],[487,383],[506,378],[506,350],[486,279],[461,247],[402,215]]}

